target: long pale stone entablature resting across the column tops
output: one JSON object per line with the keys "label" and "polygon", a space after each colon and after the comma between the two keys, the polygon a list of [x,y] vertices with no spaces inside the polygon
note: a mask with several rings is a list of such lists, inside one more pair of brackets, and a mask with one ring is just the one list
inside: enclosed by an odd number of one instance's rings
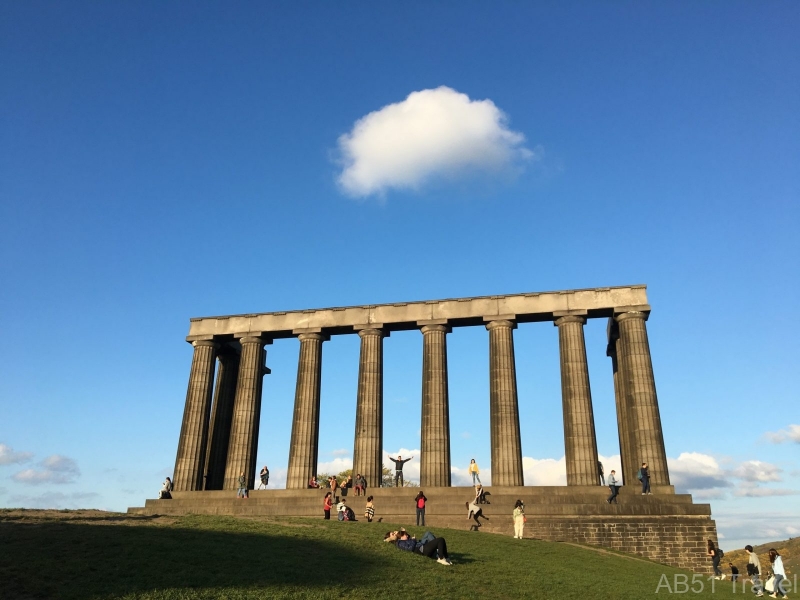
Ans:
{"label": "long pale stone entablature resting across the column tops", "polygon": [[366,326],[385,331],[413,330],[425,324],[464,327],[496,319],[534,323],[566,314],[602,318],[633,310],[650,311],[645,285],[201,317],[191,319],[186,340],[347,334]]}

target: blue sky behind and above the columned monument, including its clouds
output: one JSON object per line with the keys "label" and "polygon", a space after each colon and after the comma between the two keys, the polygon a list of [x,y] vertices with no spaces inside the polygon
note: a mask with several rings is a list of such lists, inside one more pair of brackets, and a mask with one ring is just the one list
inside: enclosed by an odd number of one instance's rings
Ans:
{"label": "blue sky behind and above the columned monument, including its clouds", "polygon": [[[153,497],[190,317],[645,283],[673,480],[726,544],[800,533],[800,5],[564,4],[7,3],[0,506]],[[558,481],[557,331],[515,336],[526,482]],[[448,344],[454,466],[488,474],[488,334]],[[421,346],[385,342],[392,454],[419,449]],[[297,350],[268,347],[277,485]],[[334,468],[358,338],[323,357]]]}

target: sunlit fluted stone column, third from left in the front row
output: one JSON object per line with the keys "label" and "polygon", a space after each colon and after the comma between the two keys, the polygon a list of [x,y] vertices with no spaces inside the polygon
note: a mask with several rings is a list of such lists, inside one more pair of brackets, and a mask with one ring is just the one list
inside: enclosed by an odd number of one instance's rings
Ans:
{"label": "sunlit fluted stone column, third from left in the front row", "polygon": [[328,338],[321,333],[301,333],[297,339],[300,340],[300,358],[297,364],[287,489],[305,489],[308,480],[317,474],[322,342]]}

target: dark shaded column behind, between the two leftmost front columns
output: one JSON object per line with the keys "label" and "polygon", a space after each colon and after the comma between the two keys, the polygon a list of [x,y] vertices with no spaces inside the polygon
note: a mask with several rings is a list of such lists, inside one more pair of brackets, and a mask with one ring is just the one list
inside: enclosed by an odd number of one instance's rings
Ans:
{"label": "dark shaded column behind, between the two leftmost front columns", "polygon": [[236,381],[239,378],[239,352],[228,347],[220,351],[217,359],[219,368],[214,388],[214,407],[211,410],[210,438],[206,455],[205,489],[207,490],[221,490],[225,481],[233,402],[236,398]]}

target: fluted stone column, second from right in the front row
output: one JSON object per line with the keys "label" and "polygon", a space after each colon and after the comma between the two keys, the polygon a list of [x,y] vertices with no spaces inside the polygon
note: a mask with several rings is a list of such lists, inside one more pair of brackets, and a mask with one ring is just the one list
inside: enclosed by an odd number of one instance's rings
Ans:
{"label": "fluted stone column, second from right in the front row", "polygon": [[597,485],[597,437],[583,326],[586,317],[565,315],[555,320],[561,356],[561,399],[564,407],[564,452],[567,485]]}

